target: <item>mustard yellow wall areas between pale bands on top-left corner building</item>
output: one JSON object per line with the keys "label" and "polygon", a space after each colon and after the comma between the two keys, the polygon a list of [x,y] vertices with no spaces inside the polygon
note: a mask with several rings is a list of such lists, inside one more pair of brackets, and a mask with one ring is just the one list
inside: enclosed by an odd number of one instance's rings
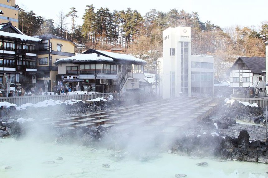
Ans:
{"label": "mustard yellow wall areas between pale bands on top-left corner building", "polygon": [[[15,0],[10,0],[9,2],[7,2],[7,0],[0,0],[0,4],[5,4],[5,5],[9,5],[9,6],[16,6],[16,3],[15,3]],[[4,14],[0,15],[0,16],[3,16],[3,17],[9,17],[9,18],[13,18],[13,19],[17,19],[19,18],[19,11],[18,10],[13,10],[13,9],[9,9],[9,8],[6,8],[6,7],[0,7],[0,9],[2,10],[2,12]],[[0,19],[0,23],[7,23],[11,20],[3,20],[3,19]],[[18,22],[15,22],[15,21],[11,21],[12,25],[15,26],[15,27],[19,27],[19,24]]]}

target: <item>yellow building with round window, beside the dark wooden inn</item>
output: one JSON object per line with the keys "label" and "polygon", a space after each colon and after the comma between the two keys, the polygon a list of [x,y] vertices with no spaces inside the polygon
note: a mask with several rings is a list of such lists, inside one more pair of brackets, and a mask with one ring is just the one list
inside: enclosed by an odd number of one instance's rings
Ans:
{"label": "yellow building with round window, beside the dark wooden inn", "polygon": [[58,85],[58,80],[56,79],[58,67],[54,63],[60,58],[74,56],[76,44],[53,34],[44,34],[35,37],[42,39],[37,52],[39,60],[37,62],[37,83],[44,85],[43,77],[50,77],[48,90],[53,91],[53,87]]}

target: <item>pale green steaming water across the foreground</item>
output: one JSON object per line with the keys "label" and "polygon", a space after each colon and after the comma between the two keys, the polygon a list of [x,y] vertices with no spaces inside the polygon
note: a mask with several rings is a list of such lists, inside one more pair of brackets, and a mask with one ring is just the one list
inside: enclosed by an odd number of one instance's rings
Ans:
{"label": "pale green steaming water across the foreground", "polygon": [[[55,143],[36,143],[29,140],[0,139],[1,178],[174,178],[187,174],[187,178],[205,177],[268,177],[268,164],[249,162],[217,162],[209,159],[190,159],[174,154],[160,153],[157,158],[141,162],[129,154],[119,159],[113,154],[123,154],[106,149],[90,152],[91,148]],[[56,160],[63,157],[63,160]],[[42,164],[45,161],[54,164]],[[208,162],[199,167],[198,162]],[[110,164],[110,168],[102,164]],[[11,166],[5,170],[4,167]]]}

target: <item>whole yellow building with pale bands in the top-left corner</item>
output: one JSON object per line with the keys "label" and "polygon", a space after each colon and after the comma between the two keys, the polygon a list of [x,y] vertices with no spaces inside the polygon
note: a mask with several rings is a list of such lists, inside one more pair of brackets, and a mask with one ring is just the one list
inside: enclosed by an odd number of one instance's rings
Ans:
{"label": "whole yellow building with pale bands in the top-left corner", "polygon": [[12,22],[14,27],[19,27],[19,11],[15,0],[0,0],[0,23]]}

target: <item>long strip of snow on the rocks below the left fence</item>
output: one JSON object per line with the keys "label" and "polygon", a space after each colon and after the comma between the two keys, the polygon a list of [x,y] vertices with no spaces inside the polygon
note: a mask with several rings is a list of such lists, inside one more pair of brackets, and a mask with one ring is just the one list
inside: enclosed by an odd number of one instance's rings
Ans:
{"label": "long strip of snow on the rocks below the left fence", "polygon": [[25,109],[26,107],[47,107],[47,106],[55,106],[57,104],[62,104],[65,103],[67,104],[74,104],[77,103],[81,100],[77,100],[77,99],[70,99],[70,100],[65,100],[65,101],[61,101],[61,100],[53,100],[53,99],[49,99],[49,100],[45,100],[45,101],[40,101],[36,104],[33,103],[26,103],[26,104],[22,104],[21,106],[17,107],[17,110],[21,110],[21,109]]}

